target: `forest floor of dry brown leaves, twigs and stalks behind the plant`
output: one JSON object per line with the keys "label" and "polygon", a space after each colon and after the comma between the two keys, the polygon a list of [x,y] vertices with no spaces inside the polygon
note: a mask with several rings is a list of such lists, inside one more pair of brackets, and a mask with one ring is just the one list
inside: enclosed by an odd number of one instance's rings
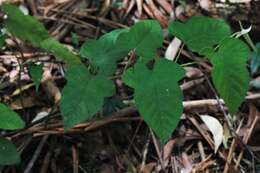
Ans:
{"label": "forest floor of dry brown leaves, twigs and stalks behind the plant", "polygon": [[[76,52],[87,40],[126,28],[139,20],[156,19],[165,32],[160,55],[164,57],[166,50],[176,55],[181,44],[168,36],[168,23],[186,21],[195,15],[224,18],[236,32],[240,30],[238,21],[241,21],[245,28],[252,26],[249,34],[254,43],[260,40],[260,1],[17,0],[12,3],[28,11],[45,25],[52,37]],[[186,79],[181,87],[187,105],[172,138],[163,146],[136,108],[124,107],[122,98],[131,91],[121,79],[115,80],[118,95],[109,103],[106,116],[96,117],[64,133],[57,104],[66,83],[61,73],[62,62],[28,45],[20,45],[24,61],[37,58],[46,67],[36,92],[28,74],[19,74],[17,56],[20,55],[14,43],[7,39],[6,44],[7,49],[0,51],[0,102],[22,115],[27,125],[21,131],[1,133],[16,144],[22,162],[0,167],[0,172],[260,172],[259,71],[251,76],[250,90],[233,117],[234,136],[216,93],[204,77],[212,69],[211,64],[206,59],[190,56],[184,47],[178,62],[196,61],[203,68],[196,65],[185,68]],[[125,63],[119,62],[118,68],[123,68]],[[17,80],[19,75],[21,80]],[[23,88],[22,92],[19,87]],[[198,115],[213,116],[221,124],[224,131],[221,135],[226,141],[216,153],[213,137],[218,135],[217,131],[212,134]]]}

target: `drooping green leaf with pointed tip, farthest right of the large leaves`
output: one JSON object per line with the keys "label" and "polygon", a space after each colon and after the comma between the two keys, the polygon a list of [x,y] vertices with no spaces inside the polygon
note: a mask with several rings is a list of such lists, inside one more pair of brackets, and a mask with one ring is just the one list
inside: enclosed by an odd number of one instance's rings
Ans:
{"label": "drooping green leaf with pointed tip, farthest right of the large leaves", "polygon": [[219,50],[210,57],[213,64],[212,78],[230,113],[234,114],[245,99],[249,88],[246,62],[249,48],[236,38],[223,41]]}

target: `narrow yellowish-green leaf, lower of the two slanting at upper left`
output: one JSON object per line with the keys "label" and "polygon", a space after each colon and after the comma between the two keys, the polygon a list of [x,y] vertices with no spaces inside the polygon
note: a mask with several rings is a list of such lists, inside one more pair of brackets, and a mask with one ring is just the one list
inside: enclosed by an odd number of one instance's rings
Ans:
{"label": "narrow yellowish-green leaf, lower of the two slanting at upper left", "polygon": [[81,63],[79,57],[53,38],[42,41],[40,46],[55,57],[65,60],[70,65],[78,65]]}

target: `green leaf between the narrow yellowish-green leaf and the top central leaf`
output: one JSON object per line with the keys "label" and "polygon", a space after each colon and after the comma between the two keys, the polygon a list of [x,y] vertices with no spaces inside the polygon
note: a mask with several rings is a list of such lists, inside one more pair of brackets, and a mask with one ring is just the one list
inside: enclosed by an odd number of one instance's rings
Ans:
{"label": "green leaf between the narrow yellowish-green leaf and the top central leaf", "polygon": [[87,58],[99,74],[112,75],[116,70],[116,61],[130,51],[123,45],[116,45],[119,35],[125,29],[117,29],[100,37],[98,40],[86,41],[80,49],[80,55]]}

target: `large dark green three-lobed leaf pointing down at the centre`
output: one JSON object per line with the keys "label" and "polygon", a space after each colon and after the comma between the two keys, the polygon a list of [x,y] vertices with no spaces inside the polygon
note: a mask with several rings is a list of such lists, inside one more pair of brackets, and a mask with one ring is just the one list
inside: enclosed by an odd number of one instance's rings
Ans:
{"label": "large dark green three-lobed leaf pointing down at the centre", "polygon": [[135,104],[163,142],[171,136],[183,111],[183,95],[178,81],[185,71],[178,64],[158,60],[153,70],[138,62],[126,71],[123,81],[135,89]]}

